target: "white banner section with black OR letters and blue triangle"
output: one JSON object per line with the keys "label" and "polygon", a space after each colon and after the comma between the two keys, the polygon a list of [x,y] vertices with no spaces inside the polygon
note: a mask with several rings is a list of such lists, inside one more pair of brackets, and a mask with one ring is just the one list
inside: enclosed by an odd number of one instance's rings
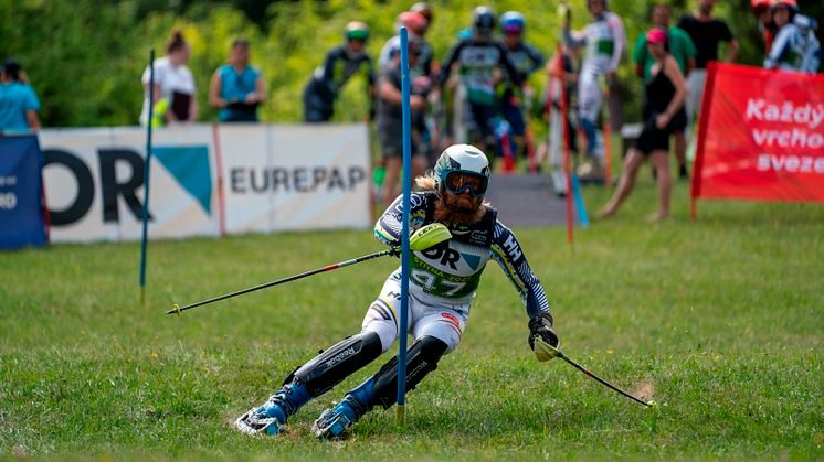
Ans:
{"label": "white banner section with black OR letters and blue triangle", "polygon": [[[211,126],[155,130],[149,236],[220,234]],[[52,240],[137,240],[145,197],[139,127],[43,130]]]}

